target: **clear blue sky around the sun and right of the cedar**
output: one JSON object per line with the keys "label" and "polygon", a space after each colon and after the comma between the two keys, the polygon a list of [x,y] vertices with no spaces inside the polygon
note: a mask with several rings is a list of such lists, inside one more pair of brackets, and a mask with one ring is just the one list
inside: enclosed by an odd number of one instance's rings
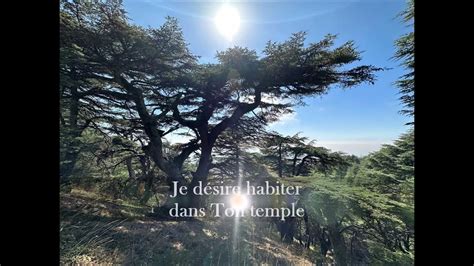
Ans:
{"label": "clear blue sky around the sun and right of the cedar", "polygon": [[410,31],[396,16],[404,0],[335,1],[238,1],[241,25],[232,41],[223,38],[214,24],[222,2],[127,0],[125,9],[132,22],[160,26],[165,16],[176,17],[191,51],[201,62],[215,62],[217,51],[239,45],[260,53],[269,40],[284,41],[291,33],[307,32],[307,42],[337,34],[336,45],[355,41],[363,51],[360,64],[387,67],[374,85],[332,89],[328,94],[305,100],[306,106],[271,125],[282,134],[302,132],[317,145],[355,155],[366,155],[391,143],[407,131],[409,118],[401,108],[393,82],[404,73],[391,59],[394,41]]}

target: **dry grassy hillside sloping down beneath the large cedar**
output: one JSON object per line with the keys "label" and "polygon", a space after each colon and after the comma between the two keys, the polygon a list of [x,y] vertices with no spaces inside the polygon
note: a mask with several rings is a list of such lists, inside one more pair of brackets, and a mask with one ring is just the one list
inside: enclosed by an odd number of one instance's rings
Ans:
{"label": "dry grassy hillside sloping down beneath the large cedar", "polygon": [[[150,209],[73,190],[61,194],[61,262],[137,265],[311,265],[268,221],[164,221]],[[314,258],[313,258],[314,259]]]}

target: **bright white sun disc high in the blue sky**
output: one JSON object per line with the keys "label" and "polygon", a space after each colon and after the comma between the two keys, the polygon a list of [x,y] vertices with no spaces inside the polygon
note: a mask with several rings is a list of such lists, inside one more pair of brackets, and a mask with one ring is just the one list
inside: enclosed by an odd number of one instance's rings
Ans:
{"label": "bright white sun disc high in the blue sky", "polygon": [[239,11],[232,6],[225,4],[217,12],[214,23],[216,24],[219,33],[227,40],[231,41],[239,30]]}

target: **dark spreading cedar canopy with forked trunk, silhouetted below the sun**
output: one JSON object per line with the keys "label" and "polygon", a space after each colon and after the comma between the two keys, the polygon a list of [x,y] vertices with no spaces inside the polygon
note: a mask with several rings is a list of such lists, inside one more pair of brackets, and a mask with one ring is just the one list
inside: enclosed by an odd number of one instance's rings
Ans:
{"label": "dark spreading cedar canopy with forked trunk, silhouetted below the sun", "polygon": [[[106,134],[140,139],[169,182],[187,183],[182,167],[194,152],[199,159],[191,184],[206,182],[217,139],[240,120],[253,116],[266,124],[304,96],[373,83],[380,70],[344,68],[360,60],[353,42],[334,48],[335,36],[328,35],[305,46],[303,32],[268,42],[261,57],[233,47],[217,54],[218,63],[199,64],[176,19],[145,29],[130,24],[116,1],[65,2],[60,24],[62,99],[77,105],[69,106],[69,120],[84,117],[85,125]],[[163,138],[183,128],[192,131],[191,140],[166,154]]]}

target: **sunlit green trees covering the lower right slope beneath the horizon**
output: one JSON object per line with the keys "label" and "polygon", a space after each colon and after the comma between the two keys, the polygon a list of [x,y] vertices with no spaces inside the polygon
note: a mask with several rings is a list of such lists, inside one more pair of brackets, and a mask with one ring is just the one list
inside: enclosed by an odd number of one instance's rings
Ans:
{"label": "sunlit green trees covering the lower right slope beneath the horizon", "polygon": [[292,179],[308,188],[299,202],[308,214],[306,234],[328,234],[339,263],[413,263],[413,143],[410,131],[353,162],[345,176]]}

